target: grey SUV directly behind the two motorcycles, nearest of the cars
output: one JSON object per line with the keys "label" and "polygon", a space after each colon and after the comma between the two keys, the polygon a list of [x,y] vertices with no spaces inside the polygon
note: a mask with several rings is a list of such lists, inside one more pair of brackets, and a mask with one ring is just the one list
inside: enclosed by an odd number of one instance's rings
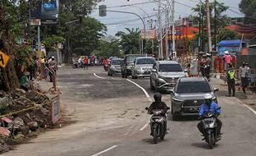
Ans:
{"label": "grey SUV directly behind the two motorcycles, nearest of the cars", "polygon": [[180,78],[171,90],[171,108],[173,120],[181,116],[198,116],[199,108],[204,103],[204,95],[212,94],[217,103],[216,91],[211,84],[202,77]]}

